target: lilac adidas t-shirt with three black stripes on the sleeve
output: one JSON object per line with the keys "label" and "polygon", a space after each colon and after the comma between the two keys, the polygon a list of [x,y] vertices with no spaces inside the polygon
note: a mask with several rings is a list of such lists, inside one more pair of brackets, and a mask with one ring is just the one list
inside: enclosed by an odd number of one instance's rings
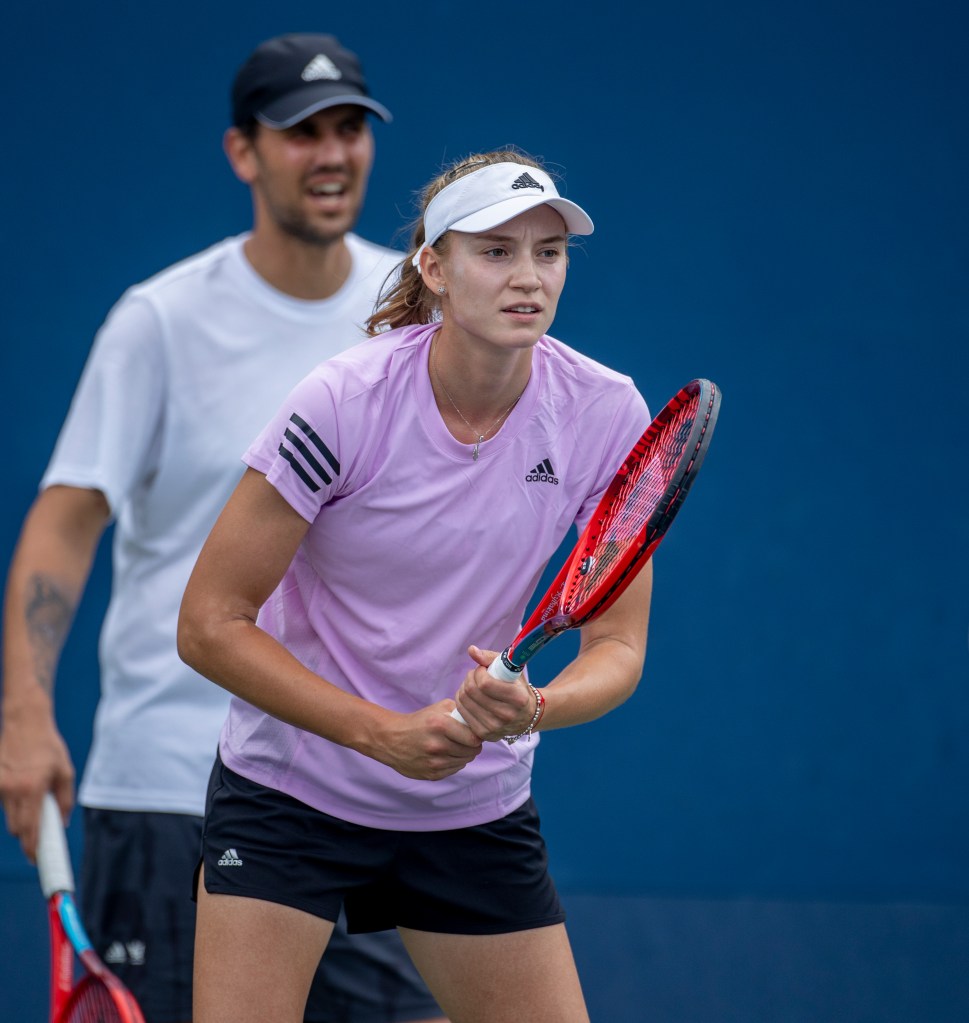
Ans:
{"label": "lilac adidas t-shirt with three black stripes on the sleeve", "polygon": [[[549,558],[650,418],[628,377],[543,337],[521,400],[472,460],[431,390],[437,328],[322,363],[245,455],[311,523],[259,625],[327,681],[402,712],[453,697],[469,643],[515,637]],[[540,673],[536,659],[537,684]],[[234,699],[221,753],[334,816],[438,831],[520,806],[537,745],[487,743],[456,774],[414,781]]]}

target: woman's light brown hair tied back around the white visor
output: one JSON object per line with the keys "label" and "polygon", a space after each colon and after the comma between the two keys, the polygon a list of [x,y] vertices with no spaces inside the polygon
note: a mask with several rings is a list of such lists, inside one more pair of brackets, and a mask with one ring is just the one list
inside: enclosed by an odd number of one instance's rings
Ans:
{"label": "woman's light brown hair tied back around the white visor", "polygon": [[[476,152],[465,157],[429,181],[421,192],[417,204],[421,213],[412,225],[410,248],[400,264],[399,276],[395,269],[387,278],[378,299],[377,308],[366,321],[366,331],[370,337],[398,326],[432,323],[438,318],[440,299],[425,286],[421,271],[410,262],[424,244],[424,212],[442,188],[466,174],[473,174],[482,167],[490,167],[492,164],[524,164],[526,167],[536,167],[548,173],[547,168],[534,157],[515,146],[509,146],[492,152]],[[434,251],[444,255],[447,252],[447,239],[448,232],[445,231],[434,242],[432,247]]]}

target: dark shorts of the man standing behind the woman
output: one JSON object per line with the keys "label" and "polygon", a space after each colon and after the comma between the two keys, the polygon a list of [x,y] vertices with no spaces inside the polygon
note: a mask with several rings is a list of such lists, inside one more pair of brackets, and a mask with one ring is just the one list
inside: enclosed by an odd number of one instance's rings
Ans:
{"label": "dark shorts of the man standing behind the woman", "polygon": [[[202,818],[84,811],[78,895],[98,954],[152,1023],[191,1019]],[[341,921],[310,990],[307,1023],[406,1023],[441,1015],[396,932],[349,937]]]}

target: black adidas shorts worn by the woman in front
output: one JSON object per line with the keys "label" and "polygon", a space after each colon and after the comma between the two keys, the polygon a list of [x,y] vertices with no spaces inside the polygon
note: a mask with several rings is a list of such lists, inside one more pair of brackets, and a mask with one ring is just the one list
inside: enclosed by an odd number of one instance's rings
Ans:
{"label": "black adidas shorts worn by the woman in front", "polygon": [[217,761],[203,835],[206,890],[290,905],[350,933],[406,927],[505,934],[565,920],[532,800],[440,832],[349,824]]}

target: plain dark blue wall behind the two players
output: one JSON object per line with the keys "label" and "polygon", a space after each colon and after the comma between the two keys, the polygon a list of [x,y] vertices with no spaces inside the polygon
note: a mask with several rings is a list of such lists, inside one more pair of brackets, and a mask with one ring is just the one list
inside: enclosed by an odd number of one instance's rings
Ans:
{"label": "plain dark blue wall behind the two players", "polygon": [[[395,114],[360,233],[398,243],[443,162],[517,143],[597,221],[553,332],[654,409],[693,376],[723,392],[656,557],[640,691],[542,743],[593,1019],[969,1018],[966,7],[171,0],[5,21],[4,565],[111,305],[249,225],[221,152],[235,68],[270,35],[335,32]],[[105,563],[58,684],[79,763]],[[41,1019],[43,906],[6,835],[0,898],[0,1017]]]}

